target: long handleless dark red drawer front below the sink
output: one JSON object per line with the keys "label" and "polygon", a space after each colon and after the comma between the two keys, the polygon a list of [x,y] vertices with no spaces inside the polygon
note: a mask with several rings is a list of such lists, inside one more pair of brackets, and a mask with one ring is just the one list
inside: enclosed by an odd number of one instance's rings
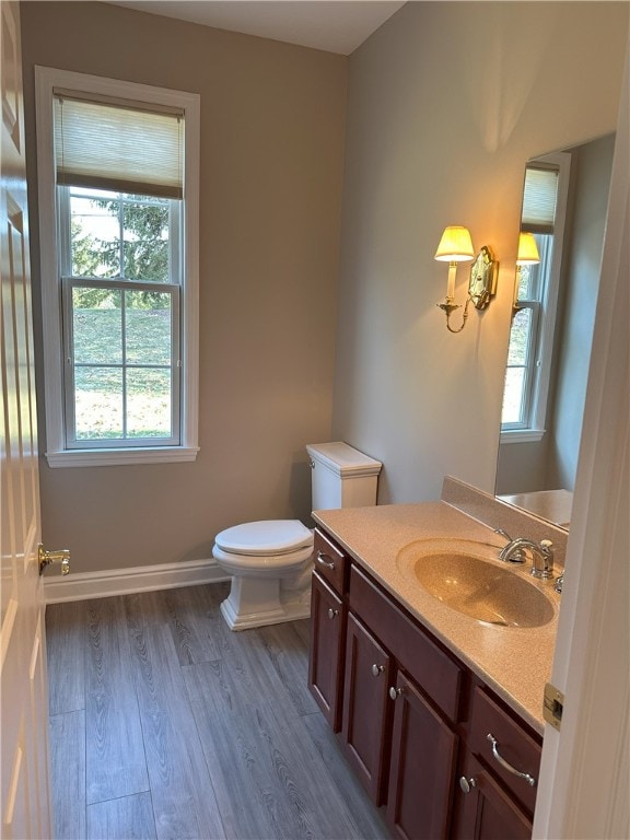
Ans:
{"label": "long handleless dark red drawer front below the sink", "polygon": [[464,670],[357,565],[350,570],[350,608],[452,721],[458,720]]}

